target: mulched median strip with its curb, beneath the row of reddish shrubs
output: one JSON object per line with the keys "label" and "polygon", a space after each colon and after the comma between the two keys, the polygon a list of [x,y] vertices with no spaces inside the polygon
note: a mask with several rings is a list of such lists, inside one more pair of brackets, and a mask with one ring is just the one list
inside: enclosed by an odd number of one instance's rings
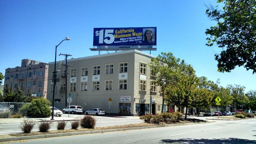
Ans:
{"label": "mulched median strip with its curb, beneath the row of reddish shrubs", "polygon": [[[214,122],[214,121],[212,121]],[[66,129],[66,130],[56,130],[49,132],[31,132],[31,133],[16,133],[11,135],[16,135],[15,137],[1,138],[0,142],[5,141],[17,141],[17,140],[30,140],[30,139],[41,139],[41,138],[51,138],[51,137],[61,137],[61,136],[72,136],[72,135],[82,135],[82,134],[92,134],[92,133],[104,133],[104,132],[118,132],[118,131],[129,131],[129,130],[139,130],[148,128],[159,128],[159,127],[169,127],[169,126],[180,126],[189,124],[204,124],[212,122],[195,122],[195,123],[180,123],[180,124],[148,124],[148,123],[137,123],[137,124],[125,124],[125,125],[115,125],[107,127],[95,127],[93,129],[80,128],[80,129]],[[148,125],[148,126],[145,126]],[[137,127],[133,127],[137,126]],[[116,127],[116,129],[111,129]],[[120,127],[120,128],[117,128]],[[73,132],[71,132],[73,131]],[[56,132],[56,133],[54,133]],[[28,136],[26,136],[26,134]],[[34,134],[34,135],[31,135]],[[36,135],[39,134],[39,135]]]}

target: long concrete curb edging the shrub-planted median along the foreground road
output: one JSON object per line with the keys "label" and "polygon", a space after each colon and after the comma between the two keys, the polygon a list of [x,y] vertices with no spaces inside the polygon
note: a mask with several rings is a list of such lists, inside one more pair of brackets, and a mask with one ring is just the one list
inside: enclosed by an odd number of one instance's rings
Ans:
{"label": "long concrete curb edging the shrub-planted median along the foreground road", "polygon": [[44,135],[32,135],[32,136],[24,136],[24,137],[1,138],[0,142],[17,141],[17,140],[30,140],[30,139],[42,139],[42,138],[52,138],[52,137],[61,137],[61,136],[73,136],[73,135],[92,134],[92,133],[130,131],[130,130],[171,127],[171,126],[190,125],[190,124],[205,124],[205,123],[213,123],[213,122],[215,122],[215,121],[186,123],[186,124],[166,124],[166,125],[155,125],[155,126],[144,126],[144,127],[121,128],[121,129],[84,131],[84,132],[66,132],[66,133],[55,133],[55,134],[44,134]]}

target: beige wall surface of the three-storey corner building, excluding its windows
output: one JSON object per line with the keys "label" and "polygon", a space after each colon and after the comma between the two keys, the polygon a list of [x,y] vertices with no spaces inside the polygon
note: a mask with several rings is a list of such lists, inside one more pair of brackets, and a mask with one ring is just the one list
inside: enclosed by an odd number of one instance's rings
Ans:
{"label": "beige wall surface of the three-storey corner building, excluding its windows", "polygon": [[[129,114],[136,114],[135,106],[136,103],[141,104],[149,104],[150,98],[150,67],[148,63],[150,63],[152,55],[149,55],[144,52],[139,52],[137,50],[124,51],[124,52],[115,52],[108,53],[90,57],[76,58],[70,59],[67,62],[67,65],[71,65],[67,70],[67,94],[74,95],[72,98],[72,102],[70,105],[78,105],[82,106],[84,111],[90,110],[92,108],[102,108],[106,113],[110,114],[118,114],[120,109],[120,104],[125,104],[130,106],[131,111]],[[128,70],[127,73],[120,73],[120,63],[127,62]],[[140,74],[140,62],[147,65],[147,73],[141,75]],[[54,107],[63,109],[65,107],[65,98],[66,95],[62,91],[60,93],[61,84],[65,83],[65,78],[61,78],[61,71],[65,70],[64,66],[60,66],[61,61],[56,62],[56,71],[57,78],[60,78],[60,82],[56,82],[57,86],[57,94],[55,94],[54,99]],[[113,74],[106,74],[105,67],[106,64],[113,64]],[[93,75],[93,66],[100,66],[100,75]],[[88,67],[88,76],[82,76],[82,68]],[[76,77],[71,77],[71,69],[77,69]],[[49,63],[49,75],[48,77],[52,77],[52,73],[54,71],[54,62]],[[97,79],[96,79],[97,78]],[[146,90],[140,91],[140,79],[146,79]],[[119,90],[120,85],[119,81],[122,79],[127,79],[127,90]],[[105,81],[112,80],[113,81],[113,89],[105,90]],[[92,82],[100,81],[100,90],[93,91],[92,90]],[[87,91],[81,91],[81,83],[87,82]],[[70,85],[76,83],[76,91],[71,91]],[[48,80],[47,89],[51,90],[53,82]],[[160,89],[158,88],[160,91]],[[52,100],[53,93],[47,93],[47,99]],[[121,101],[121,96],[130,97],[130,101]],[[156,100],[154,104],[156,104],[156,113],[157,113],[157,105],[162,102],[162,95],[160,92],[152,92],[152,97]],[[108,99],[111,98],[111,105],[109,105]],[[134,98],[136,98],[134,100]],[[141,102],[142,99],[145,99],[145,102]],[[59,101],[60,100],[60,101]],[[68,105],[68,104],[67,104]],[[123,111],[124,112],[124,111]],[[127,111],[126,111],[127,114]]]}

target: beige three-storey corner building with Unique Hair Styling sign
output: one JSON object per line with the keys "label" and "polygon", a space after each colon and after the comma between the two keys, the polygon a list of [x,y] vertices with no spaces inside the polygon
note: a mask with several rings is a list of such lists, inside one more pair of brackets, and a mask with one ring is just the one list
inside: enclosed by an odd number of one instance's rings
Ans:
{"label": "beige three-storey corner building with Unique Hair Styling sign", "polygon": [[[155,56],[130,50],[68,60],[67,95],[74,96],[70,105],[81,106],[83,111],[101,108],[113,115],[144,115],[150,112],[152,89],[152,113],[160,113],[163,93],[153,82],[155,75],[149,67],[152,57]],[[60,79],[56,82],[54,106],[62,110],[66,100],[66,72],[61,63],[56,62],[55,74]],[[53,79],[53,76],[54,62],[50,62],[48,77]],[[53,81],[49,79],[47,99],[51,102],[52,87]]]}

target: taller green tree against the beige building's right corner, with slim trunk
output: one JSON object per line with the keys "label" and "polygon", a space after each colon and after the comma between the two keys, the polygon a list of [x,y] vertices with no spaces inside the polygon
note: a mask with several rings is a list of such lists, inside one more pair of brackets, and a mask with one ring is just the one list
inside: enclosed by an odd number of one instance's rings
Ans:
{"label": "taller green tree against the beige building's right corner, with slim trunk", "polygon": [[[164,91],[165,88],[172,84],[174,81],[178,81],[182,75],[193,75],[194,69],[190,64],[185,63],[180,58],[175,58],[171,52],[161,52],[156,58],[151,58],[150,62],[151,74],[153,76],[154,83],[159,85],[163,91],[163,106],[164,106]],[[164,107],[162,106],[161,112],[163,113]]]}

